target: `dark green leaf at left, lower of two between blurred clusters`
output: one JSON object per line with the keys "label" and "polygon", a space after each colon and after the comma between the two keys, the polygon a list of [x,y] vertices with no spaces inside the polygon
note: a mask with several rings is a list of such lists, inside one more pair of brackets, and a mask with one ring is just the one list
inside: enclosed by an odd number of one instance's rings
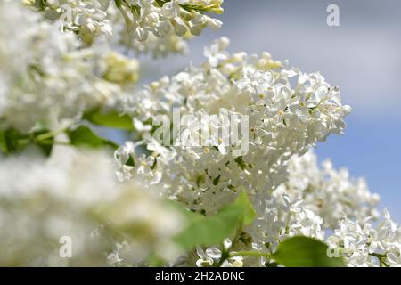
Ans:
{"label": "dark green leaf at left, lower of two between blurred clusters", "polygon": [[78,128],[68,131],[67,134],[70,137],[70,144],[75,146],[86,146],[91,148],[110,146],[113,149],[118,147],[116,143],[94,134],[94,132],[87,126],[78,126]]}

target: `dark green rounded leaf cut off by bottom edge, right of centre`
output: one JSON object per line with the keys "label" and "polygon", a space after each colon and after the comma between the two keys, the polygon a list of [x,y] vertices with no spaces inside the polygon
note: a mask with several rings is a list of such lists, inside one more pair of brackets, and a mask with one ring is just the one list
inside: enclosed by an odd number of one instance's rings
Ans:
{"label": "dark green rounded leaf cut off by bottom edge, right of centre", "polygon": [[320,240],[293,237],[280,243],[272,256],[286,267],[343,267],[340,257],[329,257],[328,246]]}

